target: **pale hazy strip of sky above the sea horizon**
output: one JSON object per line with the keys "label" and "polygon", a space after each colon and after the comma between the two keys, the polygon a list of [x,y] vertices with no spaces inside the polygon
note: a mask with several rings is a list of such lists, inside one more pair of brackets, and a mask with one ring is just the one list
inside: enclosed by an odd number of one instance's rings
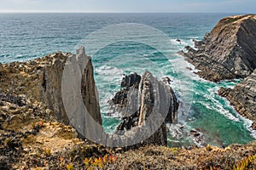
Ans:
{"label": "pale hazy strip of sky above the sea horizon", "polygon": [[256,13],[256,0],[0,0],[0,12]]}

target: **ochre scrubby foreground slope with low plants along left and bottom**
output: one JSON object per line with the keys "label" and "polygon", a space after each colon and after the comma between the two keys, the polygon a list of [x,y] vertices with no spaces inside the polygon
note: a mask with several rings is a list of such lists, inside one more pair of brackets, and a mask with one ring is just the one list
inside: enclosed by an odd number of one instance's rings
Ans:
{"label": "ochre scrubby foreground slope with low plants along left and bottom", "polygon": [[[2,82],[5,81],[0,88],[0,169],[227,169],[240,167],[244,162],[249,169],[256,167],[255,142],[232,144],[225,149],[210,145],[169,148],[147,144],[122,150],[79,139],[73,127],[58,122],[59,116],[30,91],[47,84],[42,81],[44,78],[38,77],[41,72],[38,69],[46,69],[43,65],[47,63],[46,67],[49,67],[54,63],[51,59],[57,62],[63,55],[66,54],[59,52],[35,59],[38,63],[34,66],[30,65],[33,61],[3,65],[0,76]],[[28,88],[19,89],[18,80],[28,83]],[[33,80],[36,87],[32,88],[28,80]]]}

